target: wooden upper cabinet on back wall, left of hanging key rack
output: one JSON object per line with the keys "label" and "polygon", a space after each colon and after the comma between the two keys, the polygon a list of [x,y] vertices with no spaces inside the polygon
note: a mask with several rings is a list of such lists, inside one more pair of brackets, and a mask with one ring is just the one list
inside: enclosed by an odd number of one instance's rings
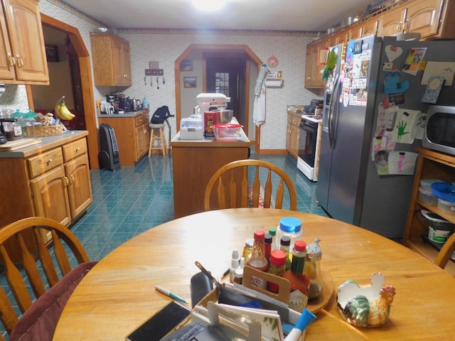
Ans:
{"label": "wooden upper cabinet on back wall, left of hanging key rack", "polygon": [[97,86],[127,86],[131,83],[129,43],[109,33],[90,33],[92,63]]}

